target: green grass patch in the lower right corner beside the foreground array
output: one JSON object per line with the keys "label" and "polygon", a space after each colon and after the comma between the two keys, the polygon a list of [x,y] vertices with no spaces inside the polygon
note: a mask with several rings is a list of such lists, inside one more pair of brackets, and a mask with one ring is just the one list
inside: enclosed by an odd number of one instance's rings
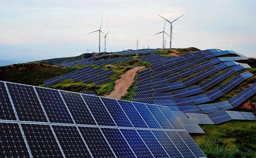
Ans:
{"label": "green grass patch in the lower right corner beside the foreground array", "polygon": [[205,134],[192,134],[192,137],[207,157],[256,157],[255,121],[201,127]]}

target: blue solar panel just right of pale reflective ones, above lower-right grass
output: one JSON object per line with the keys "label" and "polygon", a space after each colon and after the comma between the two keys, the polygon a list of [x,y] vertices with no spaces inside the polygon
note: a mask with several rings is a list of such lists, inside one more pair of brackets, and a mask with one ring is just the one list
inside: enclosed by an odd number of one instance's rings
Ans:
{"label": "blue solar panel just right of pale reflective ones, above lower-right grass", "polygon": [[217,111],[207,115],[215,124],[232,120],[232,118],[227,114],[226,111]]}

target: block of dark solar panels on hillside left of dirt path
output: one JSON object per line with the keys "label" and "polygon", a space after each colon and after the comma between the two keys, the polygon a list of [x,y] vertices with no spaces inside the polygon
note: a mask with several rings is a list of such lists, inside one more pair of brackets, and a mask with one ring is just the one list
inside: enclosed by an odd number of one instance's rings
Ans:
{"label": "block of dark solar panels on hillside left of dirt path", "polygon": [[97,69],[93,69],[93,67],[83,67],[77,71],[73,71],[67,74],[63,74],[61,76],[54,77],[52,79],[44,81],[44,84],[49,86],[66,79],[72,79],[73,82],[77,82],[82,80],[83,83],[90,83],[94,82],[96,85],[103,84],[106,82],[110,82],[111,79],[109,75],[114,74],[112,70],[102,70],[100,67]]}

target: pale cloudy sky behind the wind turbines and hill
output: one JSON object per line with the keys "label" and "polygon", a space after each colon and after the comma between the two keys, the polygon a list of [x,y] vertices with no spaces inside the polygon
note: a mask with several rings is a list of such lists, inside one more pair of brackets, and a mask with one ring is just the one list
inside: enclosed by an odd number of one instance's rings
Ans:
{"label": "pale cloudy sky behind the wind turbines and hill", "polygon": [[[0,0],[0,64],[106,51],[161,48],[164,20],[173,20],[173,48],[233,50],[256,57],[256,1]],[[169,33],[169,24],[166,23]],[[101,37],[101,50],[103,50]],[[167,38],[167,44],[169,38]]]}

